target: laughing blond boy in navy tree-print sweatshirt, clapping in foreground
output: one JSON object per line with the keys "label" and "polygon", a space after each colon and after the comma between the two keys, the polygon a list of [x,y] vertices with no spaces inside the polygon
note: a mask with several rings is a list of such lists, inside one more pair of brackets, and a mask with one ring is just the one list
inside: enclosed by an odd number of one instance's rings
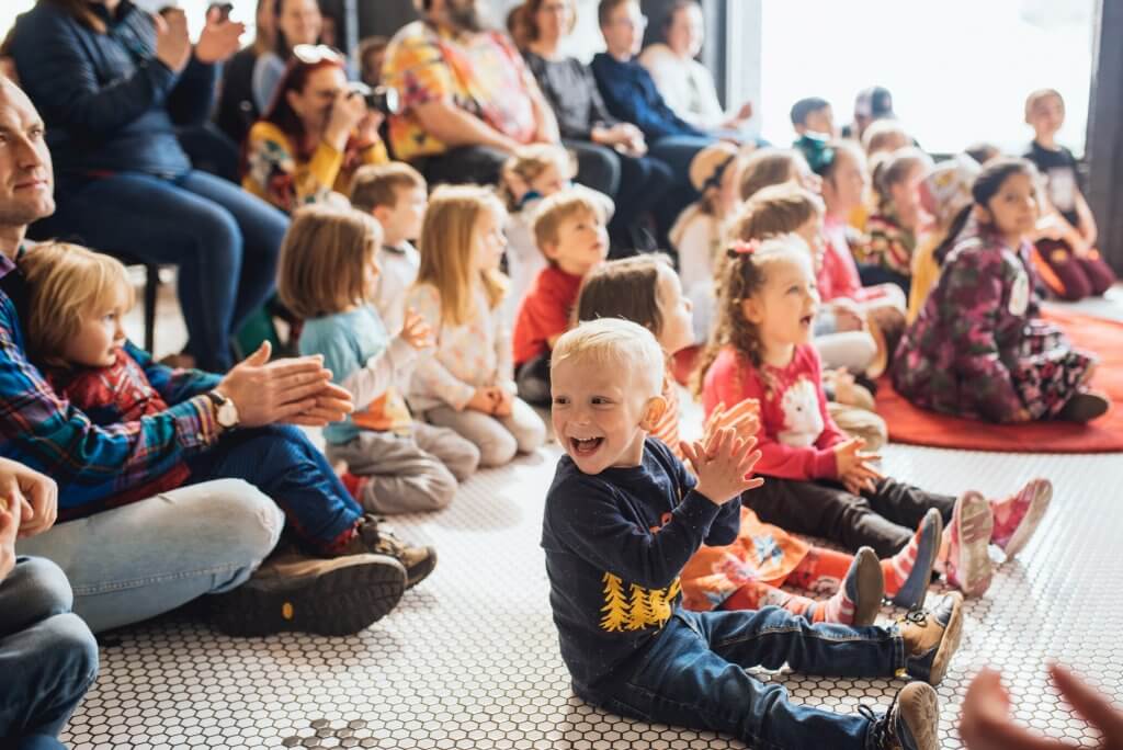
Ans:
{"label": "laughing blond boy in navy tree-print sweatshirt, clapping in foreground", "polygon": [[[566,455],[546,497],[542,547],[562,657],[583,699],[613,713],[733,734],[751,747],[934,750],[935,690],[962,631],[962,596],[891,628],[818,623],[779,607],[687,612],[683,566],[728,545],[758,455],[733,429],[683,445],[692,472],[648,437],[666,409],[666,356],[637,323],[583,322],[550,363]],[[696,477],[696,478],[695,478]],[[751,493],[750,493],[751,494]],[[746,668],[912,676],[888,713],[791,703]]]}

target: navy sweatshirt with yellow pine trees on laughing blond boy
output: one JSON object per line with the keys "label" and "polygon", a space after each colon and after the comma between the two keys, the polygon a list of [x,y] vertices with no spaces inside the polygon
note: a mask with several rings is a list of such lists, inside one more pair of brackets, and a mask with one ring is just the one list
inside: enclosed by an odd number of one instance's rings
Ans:
{"label": "navy sweatshirt with yellow pine trees on laughing blond boy", "polygon": [[558,461],[542,548],[562,658],[578,694],[596,693],[678,609],[678,574],[703,545],[730,545],[741,501],[718,507],[665,445],[648,438],[633,468],[583,474]]}

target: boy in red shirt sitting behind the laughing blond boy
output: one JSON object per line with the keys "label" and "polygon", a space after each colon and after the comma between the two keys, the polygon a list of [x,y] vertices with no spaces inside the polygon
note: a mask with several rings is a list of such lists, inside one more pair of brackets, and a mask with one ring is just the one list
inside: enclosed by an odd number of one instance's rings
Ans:
{"label": "boy in red shirt sitting behind the laughing blond boy", "polygon": [[542,201],[533,231],[546,266],[514,321],[514,378],[528,403],[550,402],[550,349],[568,328],[581,281],[604,262],[604,211],[587,190],[567,189]]}

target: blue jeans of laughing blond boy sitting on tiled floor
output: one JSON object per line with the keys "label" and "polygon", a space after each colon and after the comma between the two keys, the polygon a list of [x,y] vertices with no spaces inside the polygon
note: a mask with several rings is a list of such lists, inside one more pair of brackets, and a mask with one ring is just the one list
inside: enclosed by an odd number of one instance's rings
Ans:
{"label": "blue jeans of laughing blond boy sitting on tiled floor", "polygon": [[901,635],[884,628],[810,624],[778,607],[679,610],[611,686],[578,694],[624,716],[732,734],[757,750],[865,749],[870,722],[789,703],[787,690],[745,671],[787,662],[811,675],[892,677],[904,668]]}

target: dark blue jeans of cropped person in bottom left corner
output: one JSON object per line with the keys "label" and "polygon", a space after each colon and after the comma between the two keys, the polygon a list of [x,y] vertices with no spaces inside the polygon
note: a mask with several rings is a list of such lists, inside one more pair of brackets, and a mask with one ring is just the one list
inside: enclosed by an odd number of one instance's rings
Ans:
{"label": "dark blue jeans of cropped person in bottom left corner", "polygon": [[98,641],[73,602],[66,576],[43,558],[17,558],[0,580],[2,747],[57,735],[98,675]]}

